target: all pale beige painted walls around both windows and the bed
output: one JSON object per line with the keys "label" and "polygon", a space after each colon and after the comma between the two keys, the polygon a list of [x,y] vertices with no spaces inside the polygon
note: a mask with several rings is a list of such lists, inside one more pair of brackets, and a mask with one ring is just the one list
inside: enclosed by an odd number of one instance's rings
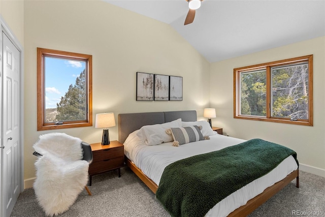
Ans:
{"label": "all pale beige painted walls around both windows and the bed", "polygon": [[[217,111],[213,125],[225,134],[291,147],[301,168],[325,176],[325,38],[209,64],[169,25],[101,1],[0,1],[0,12],[25,45],[25,180],[35,177],[31,153],[39,135],[65,132],[89,143],[100,142],[102,136],[94,127],[36,130],[37,47],[93,55],[93,118],[101,112],[114,112],[117,118],[126,112],[195,109],[202,119],[203,108],[211,104]],[[234,68],[307,54],[314,54],[313,127],[233,118]],[[182,76],[183,101],[137,102],[137,71]],[[110,128],[112,140],[117,133],[117,126]]]}

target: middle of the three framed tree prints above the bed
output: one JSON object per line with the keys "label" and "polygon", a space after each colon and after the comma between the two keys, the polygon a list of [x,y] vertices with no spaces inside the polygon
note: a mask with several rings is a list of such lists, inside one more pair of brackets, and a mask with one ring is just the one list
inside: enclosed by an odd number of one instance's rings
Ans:
{"label": "middle of the three framed tree prints above the bed", "polygon": [[168,75],[154,75],[154,100],[169,100]]}

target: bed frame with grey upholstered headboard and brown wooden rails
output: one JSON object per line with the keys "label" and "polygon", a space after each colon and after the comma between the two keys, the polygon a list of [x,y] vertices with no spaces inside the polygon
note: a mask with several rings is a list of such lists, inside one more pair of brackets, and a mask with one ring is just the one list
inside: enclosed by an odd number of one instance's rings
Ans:
{"label": "bed frame with grey upholstered headboard and brown wooden rails", "polygon": [[[158,114],[159,113],[159,114]],[[161,113],[163,116],[161,116]],[[194,115],[195,117],[192,117]],[[159,117],[158,117],[159,116]],[[119,142],[124,143],[127,135],[135,130],[140,129],[145,125],[153,125],[155,123],[164,123],[182,118],[183,121],[196,121],[196,111],[175,111],[175,112],[148,112],[148,113],[130,113],[130,114],[119,114]],[[158,118],[158,119],[155,119]],[[164,120],[163,120],[164,119]],[[133,124],[134,123],[134,124]],[[139,127],[141,126],[141,127]],[[126,127],[126,130],[123,129]],[[126,165],[147,185],[147,187],[155,194],[158,185],[146,176],[134,163],[132,163],[125,156]],[[257,207],[261,206],[273,195],[283,189],[288,183],[296,178],[296,187],[299,188],[299,169],[288,174],[284,179],[276,182],[272,186],[268,187],[261,194],[247,201],[247,203],[233,212],[228,216],[247,216]]]}

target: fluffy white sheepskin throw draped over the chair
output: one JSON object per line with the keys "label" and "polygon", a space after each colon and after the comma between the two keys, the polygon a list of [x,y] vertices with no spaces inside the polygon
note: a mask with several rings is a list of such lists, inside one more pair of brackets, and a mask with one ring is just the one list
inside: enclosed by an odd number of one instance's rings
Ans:
{"label": "fluffy white sheepskin throw draped over the chair", "polygon": [[62,133],[40,136],[33,146],[41,153],[36,163],[34,190],[46,215],[67,211],[88,181],[88,162],[82,159],[81,140]]}

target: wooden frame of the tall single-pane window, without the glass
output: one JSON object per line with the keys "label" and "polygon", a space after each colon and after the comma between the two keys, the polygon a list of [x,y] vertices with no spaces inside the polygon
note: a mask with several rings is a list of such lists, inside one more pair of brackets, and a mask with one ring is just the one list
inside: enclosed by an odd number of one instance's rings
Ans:
{"label": "wooden frame of the tall single-pane window, without the glass", "polygon": [[[86,61],[86,119],[77,121],[63,121],[59,125],[45,122],[45,76],[44,58],[57,57],[71,60]],[[92,126],[92,55],[37,48],[37,130],[56,130]]]}

